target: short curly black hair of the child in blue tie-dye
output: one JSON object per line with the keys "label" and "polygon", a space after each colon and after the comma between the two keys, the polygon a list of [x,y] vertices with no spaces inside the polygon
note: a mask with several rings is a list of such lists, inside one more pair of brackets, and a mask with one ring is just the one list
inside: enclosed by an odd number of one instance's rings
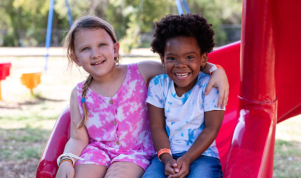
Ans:
{"label": "short curly black hair of the child in blue tie-dye", "polygon": [[167,15],[160,22],[155,22],[155,30],[153,32],[153,40],[151,41],[152,52],[164,56],[164,47],[168,39],[175,37],[192,37],[197,41],[201,50],[211,52],[215,46],[214,34],[211,29],[212,24],[207,23],[207,19],[200,13],[197,14],[181,14]]}

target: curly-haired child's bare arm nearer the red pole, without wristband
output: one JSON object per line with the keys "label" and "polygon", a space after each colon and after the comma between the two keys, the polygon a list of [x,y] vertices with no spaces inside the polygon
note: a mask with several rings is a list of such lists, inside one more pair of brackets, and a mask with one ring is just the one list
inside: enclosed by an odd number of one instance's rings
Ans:
{"label": "curly-haired child's bare arm nearer the red pole, without wristband", "polygon": [[189,165],[206,151],[217,137],[223,122],[224,113],[224,110],[205,112],[204,130],[198,135],[188,151],[177,159],[177,168],[180,171],[175,175],[170,175],[168,178],[184,178],[188,175]]}

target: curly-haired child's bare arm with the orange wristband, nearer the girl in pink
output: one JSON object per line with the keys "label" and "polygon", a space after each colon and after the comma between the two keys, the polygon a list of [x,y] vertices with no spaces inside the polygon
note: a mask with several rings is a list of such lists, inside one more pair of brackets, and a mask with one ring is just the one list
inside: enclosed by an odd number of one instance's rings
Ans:
{"label": "curly-haired child's bare arm with the orange wristband, nearer the girl in pink", "polygon": [[[165,130],[165,116],[164,109],[155,107],[149,104],[150,125],[151,125],[151,137],[156,151],[158,152],[162,148],[170,149],[169,139]],[[177,166],[176,160],[168,153],[160,155],[162,163],[165,165],[165,175],[173,175],[176,172],[174,167]]]}

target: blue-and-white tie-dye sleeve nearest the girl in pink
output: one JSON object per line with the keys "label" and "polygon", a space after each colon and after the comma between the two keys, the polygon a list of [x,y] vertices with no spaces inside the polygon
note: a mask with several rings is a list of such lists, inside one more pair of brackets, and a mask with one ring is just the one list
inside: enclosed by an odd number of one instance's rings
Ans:
{"label": "blue-and-white tie-dye sleeve nearest the girl in pink", "polygon": [[159,76],[151,79],[146,102],[158,108],[164,108],[163,81]]}

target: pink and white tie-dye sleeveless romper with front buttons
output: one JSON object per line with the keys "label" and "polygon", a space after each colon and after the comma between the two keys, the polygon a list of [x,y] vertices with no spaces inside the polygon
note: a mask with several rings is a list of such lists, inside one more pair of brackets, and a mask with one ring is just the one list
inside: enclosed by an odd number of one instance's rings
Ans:
{"label": "pink and white tie-dye sleeveless romper with front buttons", "polygon": [[[81,90],[77,84],[77,98],[81,115]],[[155,154],[151,140],[148,115],[147,87],[137,64],[127,66],[126,77],[113,97],[102,96],[87,89],[85,104],[88,118],[85,123],[90,141],[75,163],[109,167],[113,162],[134,163],[144,170]]]}

